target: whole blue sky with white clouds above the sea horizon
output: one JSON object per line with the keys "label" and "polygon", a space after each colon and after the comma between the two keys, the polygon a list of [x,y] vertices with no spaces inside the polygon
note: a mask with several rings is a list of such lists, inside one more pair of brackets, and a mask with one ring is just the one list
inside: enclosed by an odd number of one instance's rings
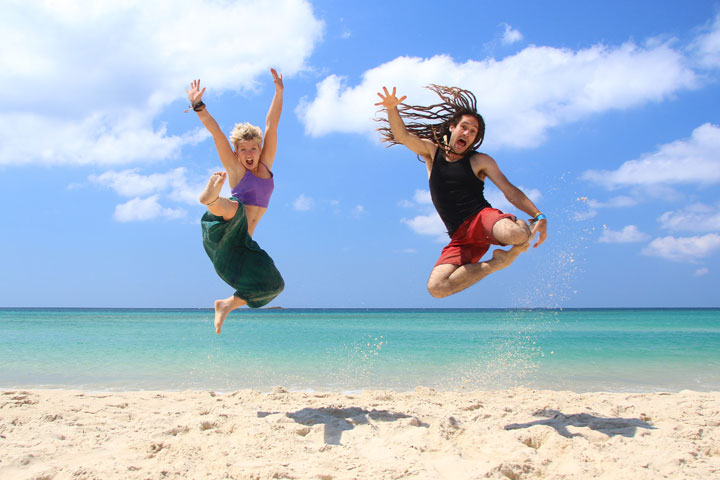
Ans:
{"label": "whole blue sky with white clouds above the sea horizon", "polygon": [[[720,3],[388,3],[3,2],[0,306],[229,295],[196,201],[220,162],[185,88],[225,131],[262,125],[270,67],[272,305],[720,306]],[[425,168],[373,122],[383,85],[427,104],[430,83],[475,92],[482,151],[549,218],[544,245],[442,300]]]}

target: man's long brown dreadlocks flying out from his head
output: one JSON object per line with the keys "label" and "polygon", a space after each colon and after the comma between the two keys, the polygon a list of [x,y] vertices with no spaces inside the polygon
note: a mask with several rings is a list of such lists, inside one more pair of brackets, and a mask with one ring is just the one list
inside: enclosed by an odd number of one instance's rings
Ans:
{"label": "man's long brown dreadlocks flying out from his head", "polygon": [[[470,115],[477,119],[479,126],[470,149],[480,146],[485,137],[485,121],[482,115],[477,113],[475,95],[458,87],[431,84],[425,88],[435,92],[443,101],[429,107],[400,104],[398,112],[403,117],[405,129],[417,137],[435,142],[447,153],[457,153],[448,145],[450,126],[457,125],[463,115]],[[377,121],[384,124],[378,128],[382,141],[398,145],[400,142],[395,140],[389,121],[386,118],[379,118]]]}

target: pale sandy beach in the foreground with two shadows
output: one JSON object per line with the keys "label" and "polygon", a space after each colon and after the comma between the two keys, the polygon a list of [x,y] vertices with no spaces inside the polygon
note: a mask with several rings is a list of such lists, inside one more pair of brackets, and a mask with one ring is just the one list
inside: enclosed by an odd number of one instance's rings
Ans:
{"label": "pale sandy beach in the foreground with two shadows", "polygon": [[720,393],[0,392],[2,479],[720,478]]}

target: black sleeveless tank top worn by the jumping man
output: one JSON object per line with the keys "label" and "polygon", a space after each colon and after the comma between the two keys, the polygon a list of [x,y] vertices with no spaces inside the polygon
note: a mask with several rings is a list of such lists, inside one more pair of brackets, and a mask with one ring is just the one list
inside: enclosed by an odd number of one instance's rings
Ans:
{"label": "black sleeveless tank top worn by the jumping man", "polygon": [[490,206],[483,195],[485,182],[470,166],[470,157],[475,153],[472,150],[460,160],[448,162],[442,147],[435,152],[430,172],[430,196],[451,237],[465,220]]}

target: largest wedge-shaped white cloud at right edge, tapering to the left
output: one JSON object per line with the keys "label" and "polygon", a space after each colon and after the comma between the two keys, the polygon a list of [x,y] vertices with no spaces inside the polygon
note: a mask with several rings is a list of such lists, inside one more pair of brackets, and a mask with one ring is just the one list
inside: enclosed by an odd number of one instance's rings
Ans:
{"label": "largest wedge-shaped white cloud at right edge, tapering to the left", "polygon": [[588,170],[582,178],[607,188],[720,182],[720,127],[706,123],[687,140],[625,162],[617,170]]}

